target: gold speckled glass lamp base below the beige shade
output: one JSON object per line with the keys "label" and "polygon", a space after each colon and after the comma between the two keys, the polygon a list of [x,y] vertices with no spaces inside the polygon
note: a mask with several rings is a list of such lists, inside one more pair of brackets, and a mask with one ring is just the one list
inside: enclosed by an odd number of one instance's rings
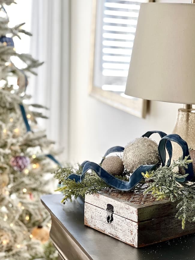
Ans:
{"label": "gold speckled glass lamp base below the beige shade", "polygon": [[[178,116],[173,133],[184,139],[189,148],[195,149],[195,109],[192,105],[184,104],[184,108],[178,109]],[[173,160],[182,156],[181,147],[173,142]]]}

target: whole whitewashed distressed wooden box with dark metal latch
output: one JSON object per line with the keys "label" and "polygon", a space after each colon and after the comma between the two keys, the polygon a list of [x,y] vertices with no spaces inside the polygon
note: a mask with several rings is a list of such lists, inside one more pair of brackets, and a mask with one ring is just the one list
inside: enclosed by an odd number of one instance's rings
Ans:
{"label": "whole whitewashed distressed wooden box with dark metal latch", "polygon": [[85,196],[84,224],[134,247],[158,243],[195,232],[195,223],[175,215],[177,203],[156,201],[143,192],[100,192]]}

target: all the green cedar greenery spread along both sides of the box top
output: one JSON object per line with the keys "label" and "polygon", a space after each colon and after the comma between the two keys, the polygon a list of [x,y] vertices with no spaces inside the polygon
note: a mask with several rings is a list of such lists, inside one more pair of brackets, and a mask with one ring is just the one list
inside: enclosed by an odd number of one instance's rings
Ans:
{"label": "all the green cedar greenery spread along both sides of the box top", "polygon": [[[176,217],[182,220],[182,229],[185,228],[186,221],[194,222],[194,210],[195,210],[195,182],[180,182],[184,175],[184,168],[187,168],[188,164],[192,161],[185,157],[184,160],[179,158],[174,161],[170,167],[160,166],[154,171],[142,173],[145,181],[142,181],[142,185],[137,184],[134,188],[143,190],[143,193],[152,193],[157,200],[169,199],[171,202],[178,201],[178,212]],[[179,169],[179,170],[178,170]],[[110,190],[116,191],[113,187],[105,183],[104,180],[98,177],[94,171],[86,173],[82,183],[76,183],[73,180],[67,179],[70,174],[82,173],[82,167],[77,164],[76,167],[68,164],[65,168],[58,169],[54,172],[55,178],[59,180],[60,187],[58,191],[64,194],[62,200],[65,203],[72,196],[77,198],[78,196],[84,197],[85,194],[97,193],[98,191]],[[127,172],[125,171],[125,174]],[[124,181],[128,181],[128,174],[124,176],[116,176]],[[147,185],[146,185],[147,184]]]}

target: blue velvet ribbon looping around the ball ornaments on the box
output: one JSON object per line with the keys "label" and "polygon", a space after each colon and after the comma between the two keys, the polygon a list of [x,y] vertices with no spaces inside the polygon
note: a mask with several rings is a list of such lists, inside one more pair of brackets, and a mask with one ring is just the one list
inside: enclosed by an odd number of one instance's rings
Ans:
{"label": "blue velvet ribbon looping around the ball ornaments on the box", "polygon": [[[169,154],[169,160],[167,162],[167,166],[170,166],[171,163],[171,158],[172,158],[172,145],[171,141],[177,142],[181,147],[183,151],[183,159],[185,156],[189,156],[189,150],[187,143],[179,136],[179,135],[167,135],[164,132],[161,131],[149,131],[145,133],[142,137],[146,136],[149,138],[153,133],[158,133],[161,136],[161,141],[159,142],[158,145],[158,151],[159,151],[159,156],[161,158],[162,166],[165,165],[166,161],[166,151],[167,149],[168,154]],[[107,152],[104,155],[104,158],[113,152],[123,152],[124,147],[122,146],[114,146],[111,147],[110,149],[107,150]],[[101,163],[103,162],[104,158],[102,159]],[[129,177],[129,181],[122,181],[109,172],[105,171],[99,164],[90,162],[90,161],[84,161],[82,164],[83,169],[82,169],[82,174],[77,175],[77,174],[71,174],[67,177],[67,179],[74,180],[75,182],[82,182],[82,180],[85,178],[85,173],[88,170],[93,170],[101,179],[103,179],[108,185],[111,187],[116,188],[117,190],[121,191],[130,191],[132,190],[142,179],[143,175],[142,173],[146,173],[152,170],[155,170],[158,166],[155,164],[152,165],[142,165],[139,166]],[[191,180],[194,176],[193,173],[193,167],[192,163],[188,164],[188,168],[185,169],[185,173],[188,174],[186,178],[179,179],[178,181],[186,181],[186,180]]]}

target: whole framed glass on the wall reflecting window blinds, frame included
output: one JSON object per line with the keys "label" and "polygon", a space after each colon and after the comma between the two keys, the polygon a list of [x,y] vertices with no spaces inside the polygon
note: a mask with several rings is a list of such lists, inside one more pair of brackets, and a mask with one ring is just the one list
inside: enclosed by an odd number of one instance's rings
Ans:
{"label": "whole framed glass on the wall reflecting window blinds, frame included", "polygon": [[140,4],[145,0],[95,1],[90,92],[139,117],[146,100],[124,94]]}

